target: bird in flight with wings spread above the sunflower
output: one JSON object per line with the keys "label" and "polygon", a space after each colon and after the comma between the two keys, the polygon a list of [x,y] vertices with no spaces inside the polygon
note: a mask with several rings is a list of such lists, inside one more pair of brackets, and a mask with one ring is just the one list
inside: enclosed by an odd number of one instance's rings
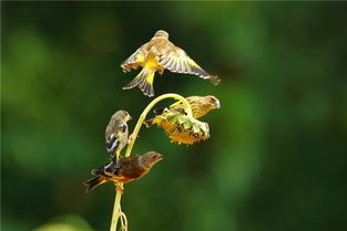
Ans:
{"label": "bird in flight with wings spread above the sunflower", "polygon": [[139,86],[149,97],[154,96],[153,81],[156,71],[160,74],[163,74],[164,70],[173,73],[195,74],[210,80],[215,85],[221,82],[218,76],[210,75],[184,50],[170,42],[169,33],[163,30],[156,31],[147,43],[141,45],[121,64],[123,72],[130,72],[140,66],[142,71],[133,81],[123,86],[123,90]]}

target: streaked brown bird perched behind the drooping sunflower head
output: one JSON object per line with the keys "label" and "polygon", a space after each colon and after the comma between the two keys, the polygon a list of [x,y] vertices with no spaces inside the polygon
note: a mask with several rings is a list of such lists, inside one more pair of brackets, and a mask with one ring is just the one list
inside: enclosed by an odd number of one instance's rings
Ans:
{"label": "streaked brown bird perched behind the drooping sunflower head", "polygon": [[[192,113],[193,113],[194,118],[200,118],[206,115],[207,113],[210,113],[212,109],[221,108],[221,103],[218,98],[216,98],[213,95],[206,95],[206,96],[193,95],[193,96],[186,97],[186,101],[192,107]],[[185,113],[183,103],[181,101],[170,105],[169,109]],[[163,113],[164,113],[164,108],[154,109],[154,114],[156,116],[145,120],[144,125],[146,127],[151,127],[153,124],[157,124],[160,119],[159,116],[162,115]]]}

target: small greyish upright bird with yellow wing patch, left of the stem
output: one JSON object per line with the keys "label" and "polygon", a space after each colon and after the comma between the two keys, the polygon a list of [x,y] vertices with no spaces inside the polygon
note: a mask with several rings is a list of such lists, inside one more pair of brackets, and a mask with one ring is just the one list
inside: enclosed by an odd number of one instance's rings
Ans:
{"label": "small greyish upright bird with yellow wing patch, left of the stem", "polygon": [[127,124],[132,119],[126,111],[115,112],[105,129],[105,144],[111,160],[115,158],[115,167],[119,167],[121,150],[127,144],[129,132]]}

